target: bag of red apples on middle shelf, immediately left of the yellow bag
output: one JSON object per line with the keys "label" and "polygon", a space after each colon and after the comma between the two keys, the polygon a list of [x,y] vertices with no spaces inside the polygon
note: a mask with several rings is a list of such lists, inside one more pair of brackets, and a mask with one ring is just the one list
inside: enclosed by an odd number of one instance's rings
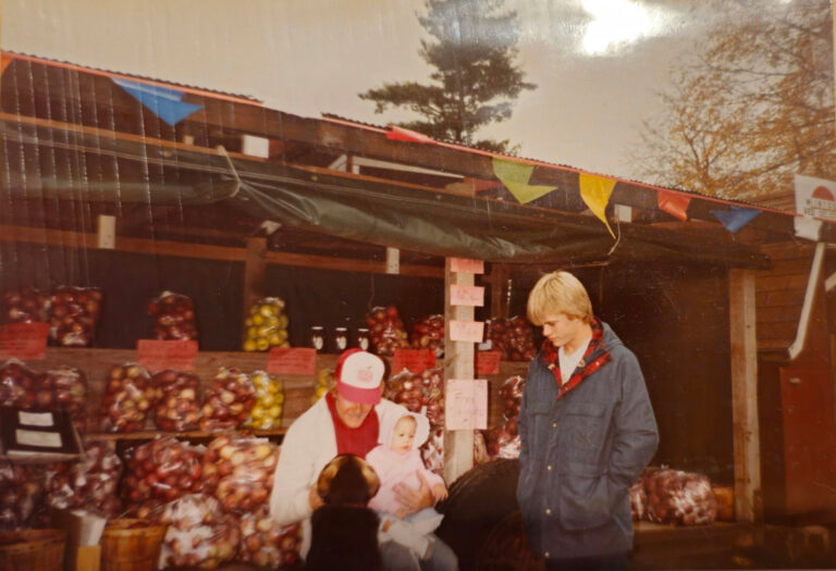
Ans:
{"label": "bag of red apples on middle shelf, immediately left of the yellow bag", "polygon": [[220,368],[206,392],[200,429],[235,429],[244,423],[256,404],[256,385],[237,369]]}

